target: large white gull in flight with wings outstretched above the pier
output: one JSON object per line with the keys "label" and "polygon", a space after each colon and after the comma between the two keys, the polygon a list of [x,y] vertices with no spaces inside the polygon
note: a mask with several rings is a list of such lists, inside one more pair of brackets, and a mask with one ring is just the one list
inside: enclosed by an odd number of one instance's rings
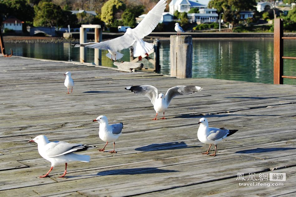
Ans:
{"label": "large white gull in flight with wings outstretched above the pier", "polygon": [[142,39],[149,35],[158,25],[165,7],[166,0],[160,0],[134,29],[127,28],[127,31],[123,36],[103,42],[74,44],[73,47],[85,46],[89,48],[108,50],[109,53],[107,53],[106,56],[112,61],[114,57],[116,61],[123,56],[123,54],[118,52],[119,50],[127,49],[130,46],[133,46],[134,54],[139,54],[139,60],[141,60],[141,55],[145,54],[149,56],[148,52],[153,48],[152,44],[144,42]]}

